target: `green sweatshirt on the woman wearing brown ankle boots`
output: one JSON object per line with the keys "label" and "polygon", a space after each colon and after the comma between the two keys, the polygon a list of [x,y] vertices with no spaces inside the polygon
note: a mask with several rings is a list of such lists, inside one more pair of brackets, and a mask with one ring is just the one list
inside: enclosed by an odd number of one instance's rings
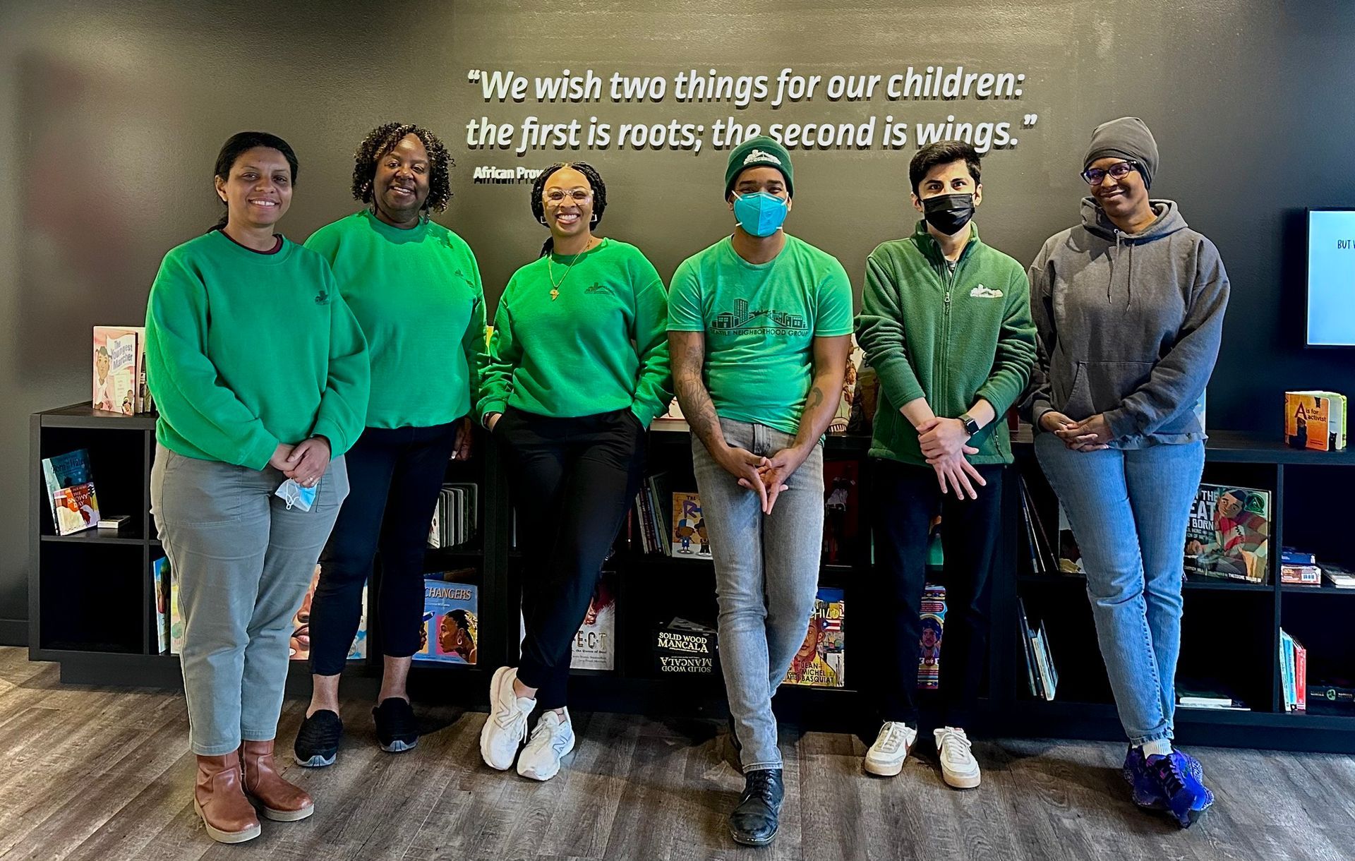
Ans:
{"label": "green sweatshirt on the woman wearing brown ankle boots", "polygon": [[146,385],[156,439],[186,457],[268,465],[312,435],[335,457],[367,414],[367,343],[324,258],[276,254],[220,231],[172,248],[150,285]]}

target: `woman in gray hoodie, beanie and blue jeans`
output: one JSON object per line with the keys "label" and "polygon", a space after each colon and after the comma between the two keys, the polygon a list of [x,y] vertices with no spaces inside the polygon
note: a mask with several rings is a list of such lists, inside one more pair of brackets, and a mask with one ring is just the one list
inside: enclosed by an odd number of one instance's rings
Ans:
{"label": "woman in gray hoodie, beanie and blue jeans", "polygon": [[1130,748],[1134,801],[1182,827],[1213,803],[1172,747],[1182,548],[1205,464],[1198,405],[1218,358],[1228,274],[1176,203],[1149,199],[1157,142],[1096,127],[1083,222],[1030,267],[1035,453],[1083,550],[1096,636]]}

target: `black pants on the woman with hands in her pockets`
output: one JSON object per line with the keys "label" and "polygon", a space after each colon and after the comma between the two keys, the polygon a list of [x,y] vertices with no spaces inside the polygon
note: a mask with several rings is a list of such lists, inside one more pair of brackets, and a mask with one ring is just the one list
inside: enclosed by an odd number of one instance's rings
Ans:
{"label": "black pants on the woman with hands in her pockets", "polygon": [[570,644],[640,488],[645,430],[629,408],[553,419],[509,407],[495,437],[526,561],[518,678],[542,708],[558,709],[568,702]]}

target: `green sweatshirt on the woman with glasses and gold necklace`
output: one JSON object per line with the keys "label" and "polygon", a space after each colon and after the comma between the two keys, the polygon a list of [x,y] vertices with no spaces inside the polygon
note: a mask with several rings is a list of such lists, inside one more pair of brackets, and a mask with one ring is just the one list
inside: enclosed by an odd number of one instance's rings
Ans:
{"label": "green sweatshirt on the woman with glasses and gold necklace", "polygon": [[664,282],[634,245],[607,239],[539,258],[499,300],[477,415],[505,404],[556,418],[629,407],[648,426],[672,400],[667,324]]}

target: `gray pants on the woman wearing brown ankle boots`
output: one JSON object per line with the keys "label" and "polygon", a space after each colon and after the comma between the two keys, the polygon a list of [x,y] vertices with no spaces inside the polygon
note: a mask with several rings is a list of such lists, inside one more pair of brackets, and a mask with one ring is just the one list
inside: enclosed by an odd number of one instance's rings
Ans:
{"label": "gray pants on the woman wearing brown ankle boots", "polygon": [[291,620],[348,495],[343,457],[310,511],[274,496],[286,480],[157,445],[150,513],[179,580],[192,753],[220,757],[278,734]]}

